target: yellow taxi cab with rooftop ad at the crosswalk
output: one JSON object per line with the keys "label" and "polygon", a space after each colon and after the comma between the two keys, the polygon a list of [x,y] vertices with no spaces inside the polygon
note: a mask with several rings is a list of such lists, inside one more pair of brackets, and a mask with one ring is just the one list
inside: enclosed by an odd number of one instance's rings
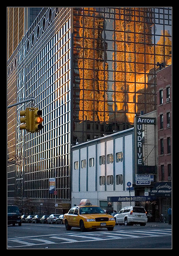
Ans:
{"label": "yellow taxi cab with rooftop ad at the crosswalk", "polygon": [[107,228],[108,231],[112,231],[115,219],[101,207],[92,205],[88,199],[83,199],[78,206],[72,207],[64,214],[63,223],[66,230],[79,227],[82,232],[88,228]]}

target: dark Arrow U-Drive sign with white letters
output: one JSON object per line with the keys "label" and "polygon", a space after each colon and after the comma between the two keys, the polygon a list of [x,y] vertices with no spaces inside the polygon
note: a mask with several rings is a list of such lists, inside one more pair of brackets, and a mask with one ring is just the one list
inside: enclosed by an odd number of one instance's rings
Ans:
{"label": "dark Arrow U-Drive sign with white letters", "polygon": [[142,150],[142,125],[155,125],[155,118],[137,117],[137,165],[142,165],[143,150]]}

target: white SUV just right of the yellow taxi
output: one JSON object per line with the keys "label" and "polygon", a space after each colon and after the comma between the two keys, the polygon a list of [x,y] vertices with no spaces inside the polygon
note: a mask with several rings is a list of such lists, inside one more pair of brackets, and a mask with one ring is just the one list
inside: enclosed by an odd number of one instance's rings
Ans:
{"label": "white SUV just right of the yellow taxi", "polygon": [[141,206],[126,206],[119,213],[114,215],[116,224],[145,226],[147,222],[147,212]]}

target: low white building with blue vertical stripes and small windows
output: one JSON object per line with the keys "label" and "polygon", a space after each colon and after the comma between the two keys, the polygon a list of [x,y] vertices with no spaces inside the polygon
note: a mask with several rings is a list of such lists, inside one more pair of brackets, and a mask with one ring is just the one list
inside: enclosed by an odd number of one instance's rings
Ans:
{"label": "low white building with blue vertical stripes and small windows", "polygon": [[[89,199],[107,209],[108,196],[129,196],[127,182],[135,182],[134,147],[134,128],[73,146],[72,206]],[[123,205],[116,202],[113,208],[118,211]]]}

